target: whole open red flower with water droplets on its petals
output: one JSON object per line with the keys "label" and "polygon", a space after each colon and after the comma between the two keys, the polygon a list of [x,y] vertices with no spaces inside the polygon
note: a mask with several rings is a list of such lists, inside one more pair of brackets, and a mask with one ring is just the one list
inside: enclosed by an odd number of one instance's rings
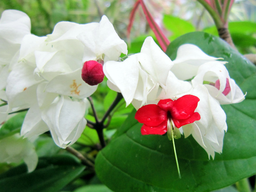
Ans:
{"label": "whole open red flower with water droplets on its petals", "polygon": [[168,118],[172,119],[175,127],[198,121],[201,117],[195,112],[199,98],[194,95],[184,95],[177,100],[160,100],[157,105],[142,106],[135,114],[135,119],[143,123],[141,134],[163,135],[167,132]]}

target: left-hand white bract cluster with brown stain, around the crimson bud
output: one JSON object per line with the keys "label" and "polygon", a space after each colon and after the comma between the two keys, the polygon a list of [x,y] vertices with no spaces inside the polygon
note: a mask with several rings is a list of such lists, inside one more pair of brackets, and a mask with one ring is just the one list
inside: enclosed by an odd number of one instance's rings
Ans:
{"label": "left-hand white bract cluster with brown stain, around the crimson bud", "polygon": [[86,125],[86,99],[97,85],[81,77],[88,60],[118,60],[127,45],[106,16],[99,23],[59,22],[52,34],[30,33],[28,15],[6,10],[0,20],[0,123],[7,114],[28,109],[21,136],[50,131],[61,148],[76,142]]}

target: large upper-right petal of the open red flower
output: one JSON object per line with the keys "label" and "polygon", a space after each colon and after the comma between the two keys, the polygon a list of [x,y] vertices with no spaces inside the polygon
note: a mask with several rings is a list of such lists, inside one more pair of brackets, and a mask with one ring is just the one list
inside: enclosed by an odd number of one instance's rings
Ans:
{"label": "large upper-right petal of the open red flower", "polygon": [[173,101],[171,116],[173,119],[187,119],[195,112],[199,98],[194,95],[184,95]]}

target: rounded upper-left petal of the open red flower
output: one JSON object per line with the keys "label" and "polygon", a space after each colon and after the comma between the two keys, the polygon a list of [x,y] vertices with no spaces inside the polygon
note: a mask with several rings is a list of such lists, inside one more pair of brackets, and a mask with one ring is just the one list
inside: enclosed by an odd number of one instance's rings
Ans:
{"label": "rounded upper-left petal of the open red flower", "polygon": [[167,119],[167,113],[158,105],[150,104],[139,108],[135,119],[149,127],[155,127]]}

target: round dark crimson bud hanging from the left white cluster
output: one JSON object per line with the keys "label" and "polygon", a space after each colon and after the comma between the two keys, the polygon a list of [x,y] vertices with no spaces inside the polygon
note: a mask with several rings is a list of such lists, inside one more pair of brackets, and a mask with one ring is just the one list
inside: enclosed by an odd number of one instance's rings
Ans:
{"label": "round dark crimson bud hanging from the left white cluster", "polygon": [[82,68],[82,79],[89,85],[97,85],[104,78],[103,66],[97,61],[85,61]]}

